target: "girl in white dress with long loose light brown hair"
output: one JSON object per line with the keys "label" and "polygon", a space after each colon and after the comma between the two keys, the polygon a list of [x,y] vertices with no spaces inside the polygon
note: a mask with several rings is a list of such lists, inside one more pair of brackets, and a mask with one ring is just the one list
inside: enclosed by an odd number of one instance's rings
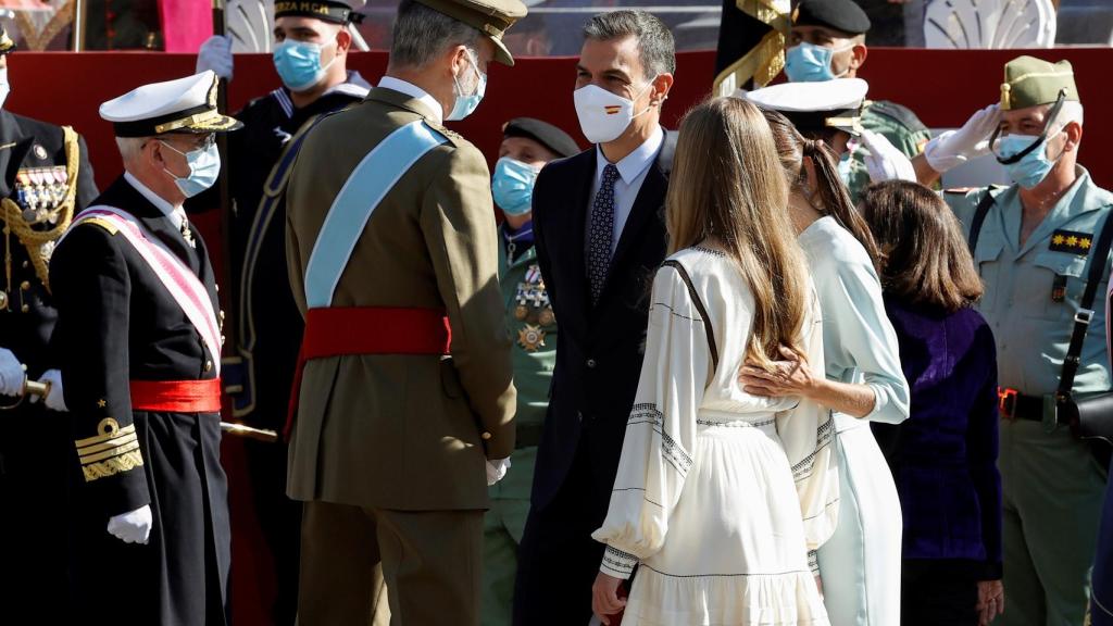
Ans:
{"label": "girl in white dress with long loose light brown hair", "polygon": [[[768,125],[731,98],[680,128],[671,256],[653,281],[646,360],[603,526],[603,624],[826,625],[808,550],[833,531],[827,411],[741,390],[781,346],[823,368],[823,332]],[[640,564],[640,565],[639,565]],[[629,598],[618,589],[639,565]]]}

